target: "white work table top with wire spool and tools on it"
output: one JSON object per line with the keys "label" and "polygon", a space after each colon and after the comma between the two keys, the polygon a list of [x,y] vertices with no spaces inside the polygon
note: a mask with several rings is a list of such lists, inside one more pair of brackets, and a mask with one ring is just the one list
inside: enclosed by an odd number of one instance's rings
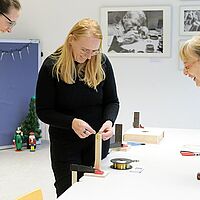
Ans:
{"label": "white work table top with wire spool and tools on it", "polygon": [[[159,144],[133,146],[128,151],[112,151],[103,161],[106,177],[84,176],[58,200],[199,200],[200,156],[182,156],[183,145],[200,145],[200,130],[164,129]],[[111,169],[112,158],[129,158],[132,169]],[[133,172],[142,167],[141,173]]]}

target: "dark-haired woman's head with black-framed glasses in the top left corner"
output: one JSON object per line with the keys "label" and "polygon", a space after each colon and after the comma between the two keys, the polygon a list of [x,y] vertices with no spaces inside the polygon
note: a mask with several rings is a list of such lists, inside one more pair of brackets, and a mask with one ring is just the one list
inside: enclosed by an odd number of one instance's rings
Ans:
{"label": "dark-haired woman's head with black-framed glasses in the top left corner", "polygon": [[0,32],[11,32],[20,15],[18,0],[0,0]]}

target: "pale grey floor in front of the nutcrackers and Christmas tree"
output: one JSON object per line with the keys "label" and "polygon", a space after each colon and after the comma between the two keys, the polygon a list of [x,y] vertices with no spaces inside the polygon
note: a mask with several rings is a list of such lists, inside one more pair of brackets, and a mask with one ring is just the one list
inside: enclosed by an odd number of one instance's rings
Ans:
{"label": "pale grey floor in front of the nutcrackers and Christmas tree", "polygon": [[21,152],[0,150],[0,200],[15,200],[36,188],[42,189],[44,200],[55,200],[53,184],[47,140],[35,152],[25,147]]}

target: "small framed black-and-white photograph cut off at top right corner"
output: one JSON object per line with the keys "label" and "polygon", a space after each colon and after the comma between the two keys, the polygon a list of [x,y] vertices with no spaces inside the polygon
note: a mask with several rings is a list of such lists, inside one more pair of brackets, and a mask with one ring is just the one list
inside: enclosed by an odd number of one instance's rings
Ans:
{"label": "small framed black-and-white photograph cut off at top right corner", "polygon": [[200,33],[200,5],[180,7],[180,35]]}

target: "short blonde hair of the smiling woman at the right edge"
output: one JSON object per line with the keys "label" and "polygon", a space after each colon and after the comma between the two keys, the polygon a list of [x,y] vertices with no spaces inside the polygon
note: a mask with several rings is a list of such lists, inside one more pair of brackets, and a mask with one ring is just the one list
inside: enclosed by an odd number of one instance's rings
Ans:
{"label": "short blonde hair of the smiling woman at the right edge", "polygon": [[179,55],[183,61],[190,60],[190,58],[194,57],[200,57],[200,35],[192,37],[181,45]]}

